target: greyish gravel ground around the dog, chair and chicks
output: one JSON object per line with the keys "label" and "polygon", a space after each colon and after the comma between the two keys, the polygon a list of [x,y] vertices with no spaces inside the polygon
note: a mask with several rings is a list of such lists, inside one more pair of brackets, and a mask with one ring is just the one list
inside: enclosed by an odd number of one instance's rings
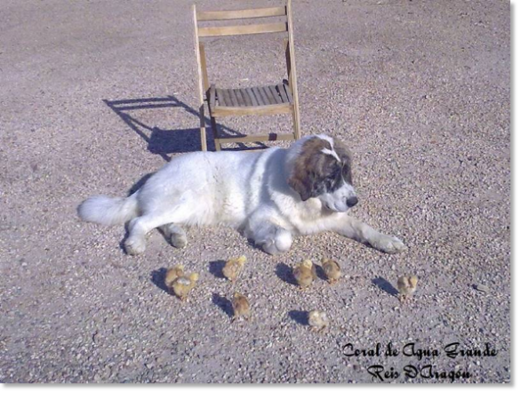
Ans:
{"label": "greyish gravel ground around the dog, chair and chicks", "polygon": [[[270,257],[213,228],[192,229],[184,250],[155,232],[130,257],[124,228],[81,222],[76,206],[123,196],[199,148],[190,3],[0,3],[0,381],[378,381],[371,365],[399,373],[395,381],[449,381],[405,376],[408,364],[471,374],[457,381],[509,381],[509,2],[293,2],[303,133],[348,142],[354,214],[403,238],[408,252],[326,233]],[[282,75],[276,36],[208,41],[221,84]],[[249,263],[230,285],[221,261],[240,254]],[[288,269],[322,255],[347,277],[296,291]],[[201,275],[185,304],[161,281],[179,262]],[[407,273],[420,285],[401,305],[392,285]],[[229,323],[236,290],[252,302],[252,323]],[[331,317],[328,331],[309,331],[314,308]],[[497,354],[452,359],[442,349],[454,341],[490,342]],[[343,353],[378,342],[432,351]]]}

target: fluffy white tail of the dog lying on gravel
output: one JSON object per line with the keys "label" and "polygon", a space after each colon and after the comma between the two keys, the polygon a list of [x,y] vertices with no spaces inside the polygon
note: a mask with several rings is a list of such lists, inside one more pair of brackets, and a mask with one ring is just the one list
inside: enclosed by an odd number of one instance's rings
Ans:
{"label": "fluffy white tail of the dog lying on gravel", "polygon": [[77,207],[77,215],[83,221],[103,225],[124,224],[138,216],[138,193],[139,191],[126,198],[104,195],[90,197]]}

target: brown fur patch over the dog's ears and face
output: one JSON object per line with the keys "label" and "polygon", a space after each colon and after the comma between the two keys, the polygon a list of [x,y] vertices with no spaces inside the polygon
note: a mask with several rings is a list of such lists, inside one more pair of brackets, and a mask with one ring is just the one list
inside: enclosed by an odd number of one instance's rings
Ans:
{"label": "brown fur patch over the dog's ears and face", "polygon": [[301,200],[307,201],[311,197],[333,192],[340,187],[341,179],[352,184],[348,149],[335,138],[331,146],[329,140],[314,137],[303,143],[287,181],[300,194]]}

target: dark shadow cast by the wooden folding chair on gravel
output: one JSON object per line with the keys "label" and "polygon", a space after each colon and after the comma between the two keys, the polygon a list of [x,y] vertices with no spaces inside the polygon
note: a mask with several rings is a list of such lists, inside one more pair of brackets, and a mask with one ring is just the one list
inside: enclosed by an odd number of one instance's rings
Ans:
{"label": "dark shadow cast by the wooden folding chair on gravel", "polygon": [[[143,140],[148,143],[148,151],[152,154],[162,156],[164,161],[170,161],[170,154],[187,153],[190,151],[200,151],[200,129],[162,129],[153,124],[145,124],[137,119],[133,112],[141,109],[158,109],[158,108],[178,108],[185,110],[190,115],[196,117],[199,121],[198,110],[189,107],[187,104],[178,100],[173,95],[166,97],[154,97],[132,100],[103,100],[108,108],[112,109],[117,116],[121,117],[133,132],[136,132]],[[213,140],[213,132],[211,130],[211,120],[205,117],[206,124],[206,140],[208,141],[208,149],[214,150],[215,143]],[[219,124],[219,133],[221,136],[245,136],[244,133],[238,132]],[[253,148],[267,148],[263,143],[258,142],[256,146],[248,147],[244,143],[237,143],[237,148],[226,148],[226,150],[249,150]]]}

